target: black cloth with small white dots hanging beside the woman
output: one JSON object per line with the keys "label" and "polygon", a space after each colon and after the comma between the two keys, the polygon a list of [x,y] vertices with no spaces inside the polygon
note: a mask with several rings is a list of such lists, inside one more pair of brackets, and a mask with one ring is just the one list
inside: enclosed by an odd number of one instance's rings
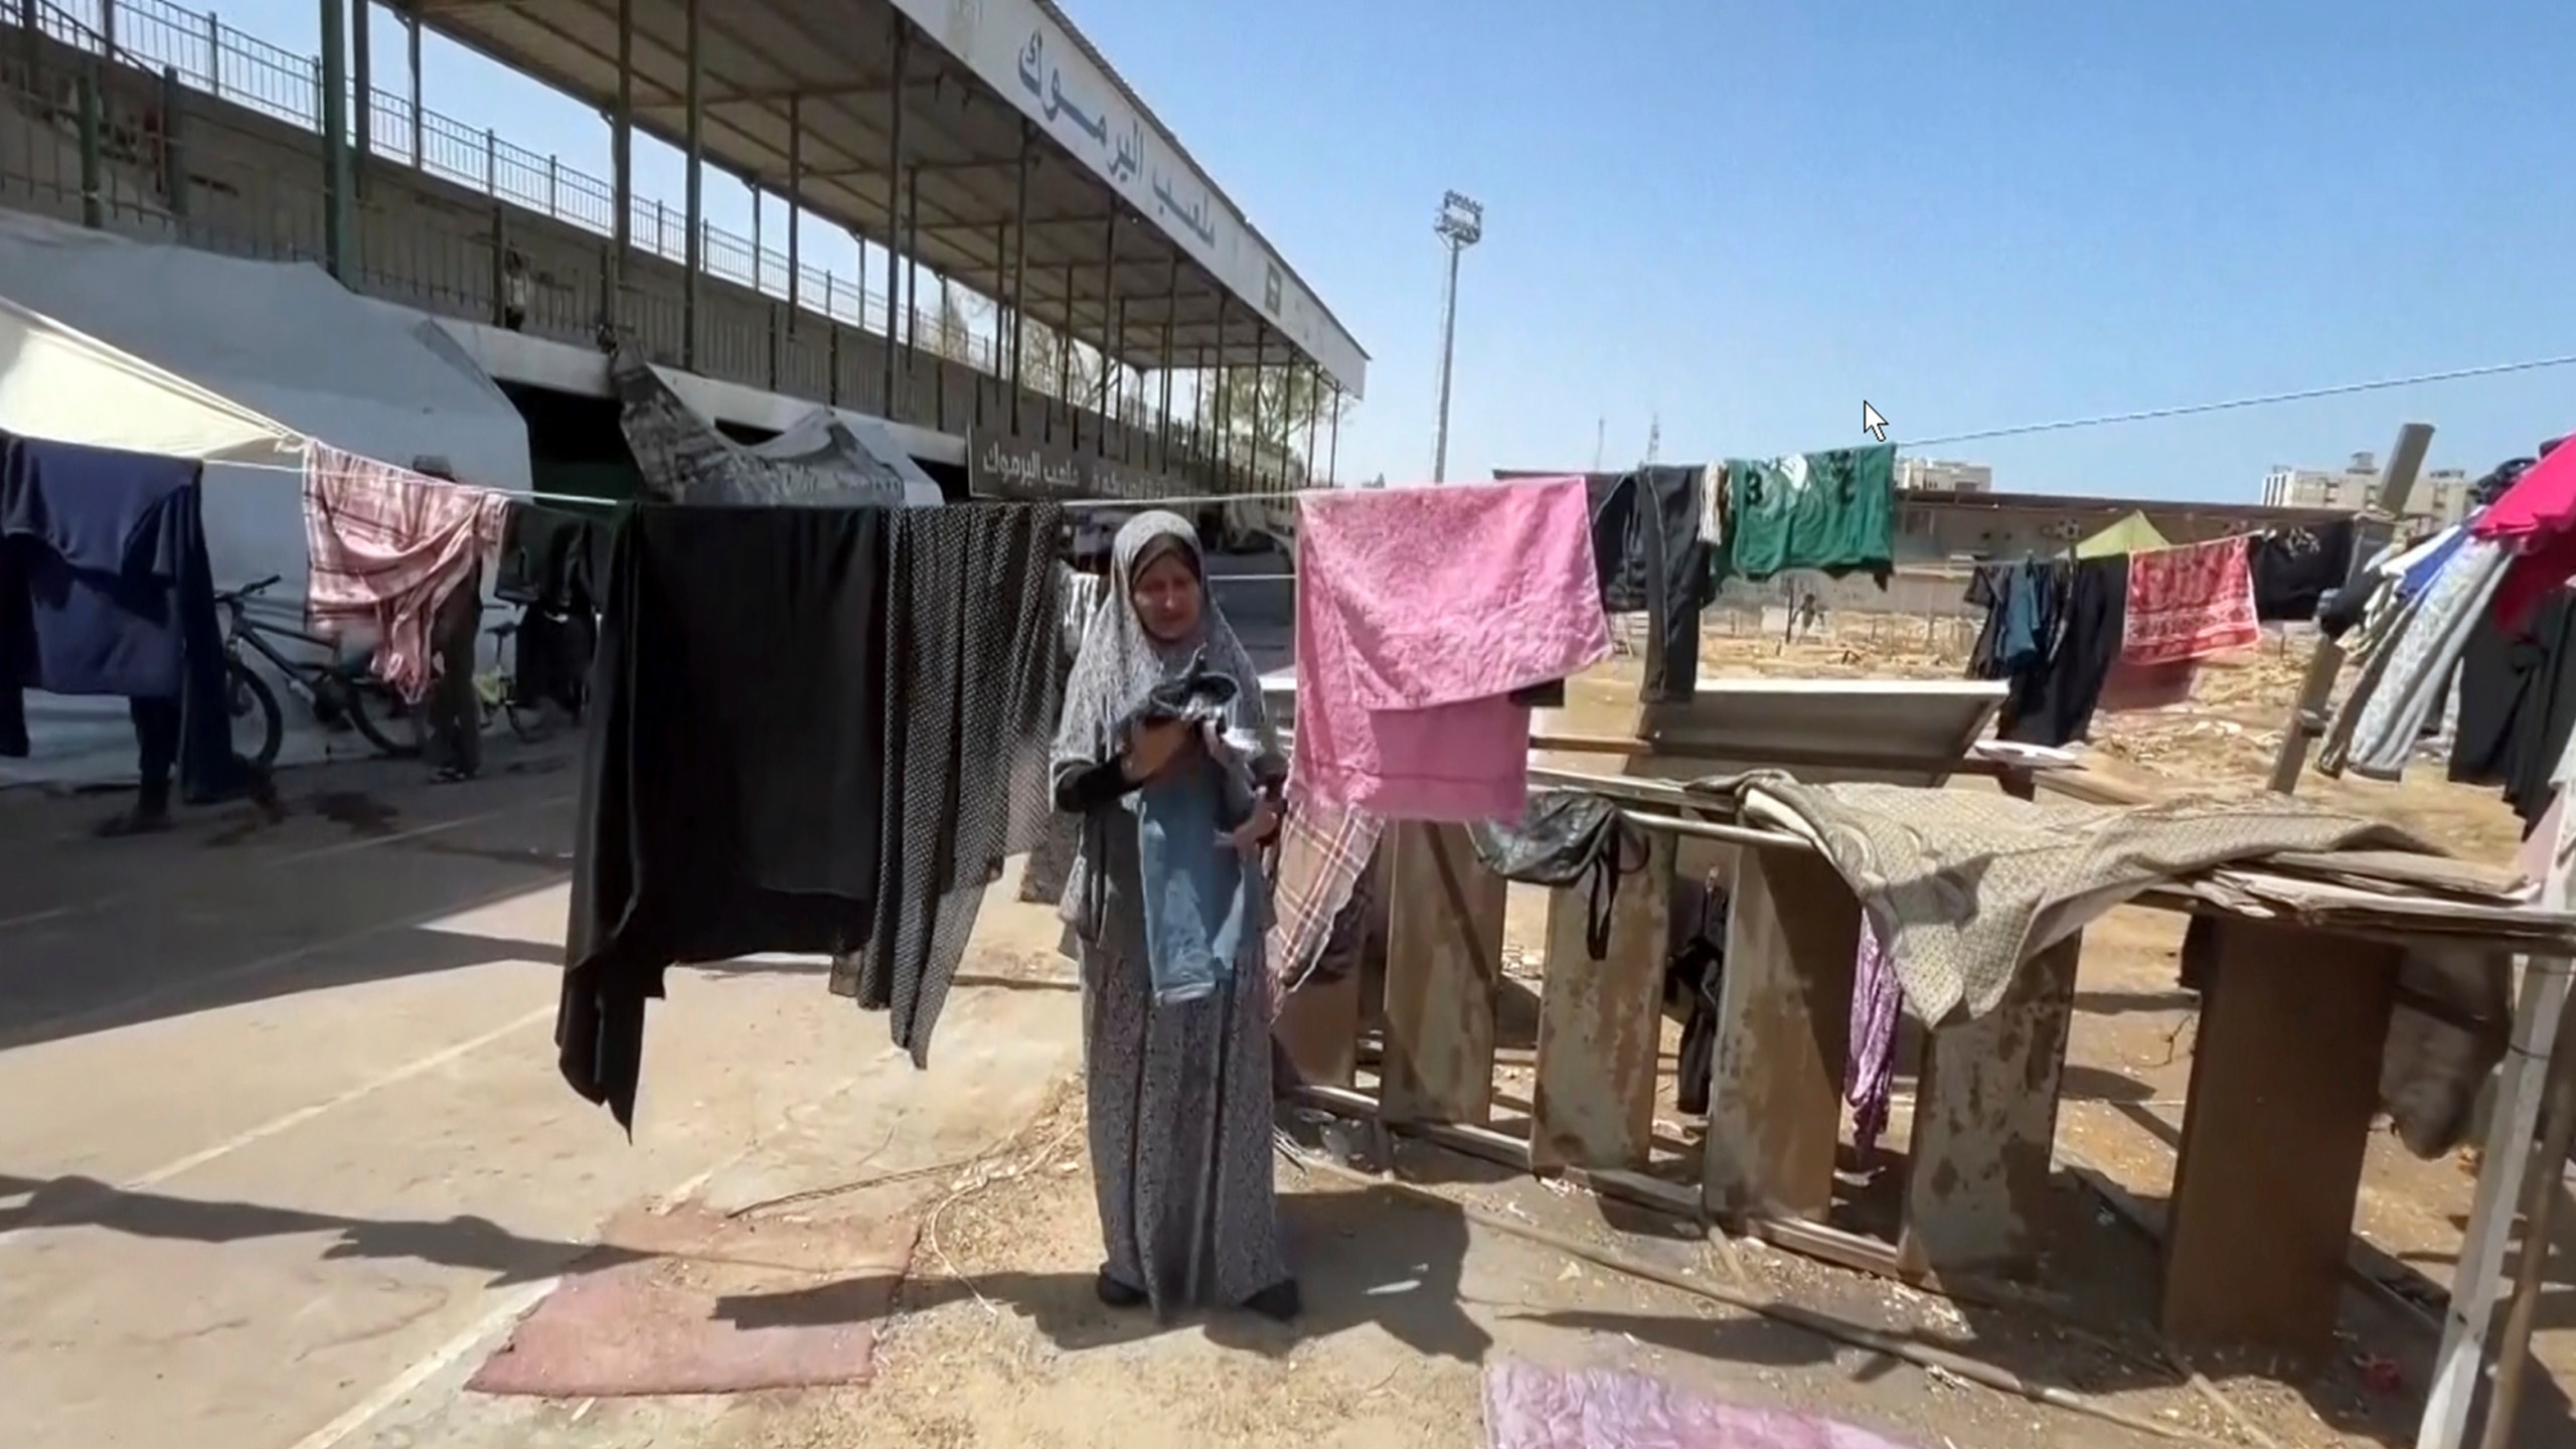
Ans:
{"label": "black cloth with small white dots hanging beside the woman", "polygon": [[1054,815],[1061,508],[951,503],[894,518],[878,699],[896,794],[873,928],[860,949],[835,951],[832,990],[886,1008],[894,1044],[927,1065],[984,887]]}

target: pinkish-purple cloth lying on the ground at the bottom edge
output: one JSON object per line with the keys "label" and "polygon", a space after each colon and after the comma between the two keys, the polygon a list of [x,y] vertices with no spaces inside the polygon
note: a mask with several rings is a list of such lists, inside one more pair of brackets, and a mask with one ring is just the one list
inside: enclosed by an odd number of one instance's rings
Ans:
{"label": "pinkish-purple cloth lying on the ground at the bottom edge", "polygon": [[1906,1449],[1785,1408],[1744,1408],[1662,1379],[1535,1364],[1486,1364],[1489,1449]]}

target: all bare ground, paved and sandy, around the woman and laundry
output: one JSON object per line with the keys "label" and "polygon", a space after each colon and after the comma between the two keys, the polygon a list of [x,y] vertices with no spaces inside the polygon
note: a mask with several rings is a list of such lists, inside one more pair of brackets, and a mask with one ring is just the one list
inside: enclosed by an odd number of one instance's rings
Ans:
{"label": "all bare ground, paved and sandy, around the woman and laundry", "polygon": [[[1960,627],[1868,616],[1780,645],[1718,616],[1705,673],[1955,678],[1965,645]],[[2295,650],[2272,642],[2223,660],[2202,673],[2190,706],[2105,719],[2094,768],[2156,789],[2251,789],[2300,668]],[[1613,668],[1605,688],[1625,686]],[[1054,915],[1015,902],[1010,879],[987,900],[930,1073],[884,1052],[881,1026],[868,1052],[853,1052],[868,1039],[845,1003],[822,993],[811,964],[683,972],[654,1018],[639,1152],[562,1093],[541,1042],[562,920],[562,887],[546,882],[559,882],[569,810],[554,797],[515,804],[520,797],[500,792],[518,786],[502,781],[482,789],[489,799],[446,804],[453,822],[422,822],[415,812],[425,804],[379,792],[402,817],[368,825],[358,843],[337,841],[317,804],[294,825],[304,835],[265,846],[273,864],[227,866],[206,879],[204,900],[162,913],[214,920],[216,897],[252,892],[268,915],[314,915],[294,938],[273,920],[245,923],[237,954],[250,964],[191,957],[188,936],[165,931],[155,913],[95,908],[75,931],[72,918],[54,920],[59,910],[0,910],[0,926],[15,931],[0,951],[28,967],[28,982],[10,990],[62,1021],[21,1031],[31,1044],[0,1034],[0,1080],[26,1101],[41,1091],[59,1104],[21,1116],[8,1165],[28,1178],[98,1178],[98,1201],[62,1199],[67,1207],[46,1212],[57,1199],[44,1183],[0,1176],[0,1248],[21,1253],[0,1274],[0,1320],[28,1325],[0,1333],[0,1421],[31,1428],[33,1446],[165,1444],[178,1441],[178,1426],[204,1423],[209,1434],[191,1441],[211,1449],[1471,1449],[1484,1444],[1479,1372],[1499,1356],[1628,1366],[1736,1403],[1829,1413],[1919,1449],[2128,1449],[2172,1436],[2257,1449],[2411,1444],[2434,1346],[2424,1305],[2437,1305],[2450,1279],[2473,1186],[2460,1160],[2419,1163],[2385,1134],[2372,1145],[2354,1258],[2385,1287],[2354,1281],[2347,1292],[2342,1354],[2321,1374],[2202,1364],[2213,1395],[2187,1385],[2141,1330],[2151,1323],[2154,1245],[2076,1168],[2146,1204],[2169,1194],[2192,1052],[2174,915],[2120,910],[2087,936],[2058,1122],[2066,1248],[2032,1284],[2045,1310],[1950,1302],[1759,1243],[1708,1240],[1432,1147],[1394,1152],[1399,1178],[1481,1212],[1682,1281],[1947,1346],[2164,1428],[2141,1434],[1605,1271],[1296,1160],[1280,1163],[1280,1212],[1309,1305],[1298,1325],[1213,1315],[1157,1328],[1113,1315],[1090,1292],[1097,1222],[1072,964],[1054,951]],[[2437,766],[2398,786],[2311,776],[2303,792],[2391,815],[2476,859],[2509,859],[2519,835],[2494,792],[2442,784]],[[513,815],[492,815],[500,810]],[[44,830],[70,838],[70,825]],[[180,859],[214,843],[165,851]],[[49,851],[62,866],[88,859]],[[399,871],[389,869],[397,859]],[[100,884],[113,882],[106,856],[98,861]],[[430,892],[433,861],[479,874]],[[366,890],[384,900],[358,900]],[[459,905],[502,890],[523,895]],[[448,915],[399,931],[394,944],[332,944],[330,931],[350,931],[330,915],[343,897],[384,918]],[[1530,1044],[1543,908],[1538,892],[1515,887],[1504,1047]],[[312,949],[327,962],[299,957],[296,980],[252,993],[250,972],[286,959],[252,957],[304,936],[325,938]],[[477,949],[461,954],[459,938]],[[44,972],[33,946],[54,954]],[[412,954],[381,962],[394,946]],[[134,995],[98,975],[111,967],[170,975],[178,985],[152,990],[216,1000],[100,1016],[93,995]],[[124,1026],[137,1016],[155,1021]],[[270,1042],[255,1067],[245,1065],[245,1044]],[[335,1047],[317,1055],[314,1042]],[[1674,1044],[1677,1031],[1667,1049]],[[137,1052],[185,1073],[188,1091],[131,1080],[121,1062]],[[415,1065],[384,1073],[412,1055]],[[1515,1055],[1499,1067],[1504,1111],[1530,1096]],[[1899,1080],[1891,1142],[1904,1142],[1906,1088]],[[185,1096],[178,1106],[188,1111],[162,1101],[170,1096]],[[1656,1127],[1680,1152],[1698,1140],[1698,1122],[1669,1101]],[[1855,1171],[1847,1186],[1865,1201],[1873,1183]],[[36,1196],[13,1207],[10,1194],[26,1189]],[[585,1232],[662,1199],[819,1227],[920,1225],[894,1310],[878,1320],[876,1379],[631,1400],[461,1387],[507,1336],[513,1305],[533,1302],[526,1294],[569,1266]],[[2548,1374],[2527,1387],[2514,1439],[2527,1446],[2576,1446],[2576,1207],[2561,1222],[2568,1232],[2540,1310]],[[422,1302],[435,1292],[435,1315],[404,1318],[399,1333],[374,1325],[379,1299],[397,1289]],[[178,1328],[162,1323],[170,1302],[185,1305]],[[814,1312],[799,1302],[755,1307],[775,1320]],[[183,1356],[137,1356],[173,1333]],[[90,1387],[67,1397],[59,1385],[75,1379]],[[191,1405],[219,1405],[224,1418]],[[126,1431],[80,1428],[108,1423]]]}

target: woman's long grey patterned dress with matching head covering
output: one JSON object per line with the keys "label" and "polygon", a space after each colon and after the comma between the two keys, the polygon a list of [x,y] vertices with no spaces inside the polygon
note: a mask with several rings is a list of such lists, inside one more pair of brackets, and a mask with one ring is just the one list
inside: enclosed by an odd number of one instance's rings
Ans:
{"label": "woman's long grey patterned dress with matching head covering", "polygon": [[[1146,513],[1118,534],[1110,596],[1064,696],[1059,781],[1113,758],[1126,712],[1167,673],[1185,670],[1198,647],[1211,668],[1249,686],[1234,724],[1270,740],[1257,676],[1213,598],[1198,639],[1159,645],[1136,621],[1128,580],[1170,547],[1198,557],[1190,526],[1170,513]],[[1157,1315],[1231,1307],[1288,1281],[1270,1155],[1265,931],[1244,931],[1234,977],[1216,995],[1157,1006],[1141,900],[1136,815],[1123,802],[1087,812],[1061,913],[1082,957],[1103,1274],[1141,1292]],[[1267,890],[1255,905],[1267,920]]]}

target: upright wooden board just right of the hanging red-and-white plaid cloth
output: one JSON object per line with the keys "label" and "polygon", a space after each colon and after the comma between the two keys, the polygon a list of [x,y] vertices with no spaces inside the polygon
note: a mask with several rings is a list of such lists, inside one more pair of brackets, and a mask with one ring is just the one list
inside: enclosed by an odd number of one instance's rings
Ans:
{"label": "upright wooden board just right of the hanging red-and-white plaid cloth", "polygon": [[1494,990],[1502,982],[1504,879],[1463,825],[1388,830],[1386,1065],[1388,1122],[1494,1116]]}

